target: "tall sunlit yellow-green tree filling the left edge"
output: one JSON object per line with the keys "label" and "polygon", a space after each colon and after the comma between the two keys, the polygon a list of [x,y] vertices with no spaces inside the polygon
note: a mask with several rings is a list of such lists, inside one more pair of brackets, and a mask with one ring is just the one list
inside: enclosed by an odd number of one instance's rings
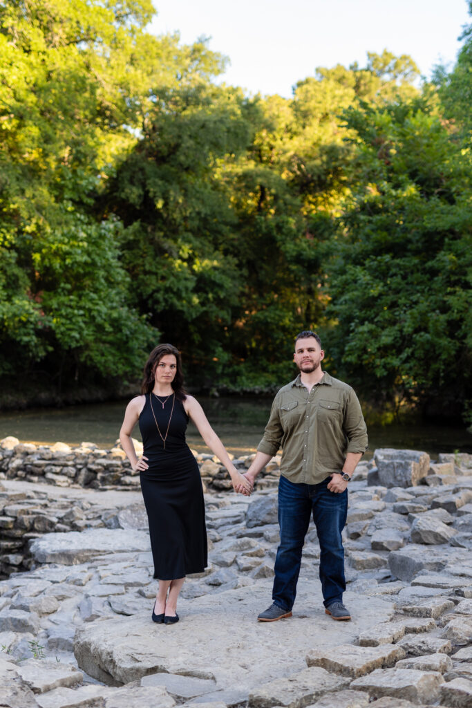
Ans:
{"label": "tall sunlit yellow-green tree filling the left edge", "polygon": [[[0,375],[136,375],[159,331],[130,306],[96,198],[163,83],[208,81],[205,42],[144,31],[149,0],[0,2]],[[140,347],[132,346],[139,341]],[[129,349],[131,344],[131,349]],[[47,384],[50,385],[50,384]]]}

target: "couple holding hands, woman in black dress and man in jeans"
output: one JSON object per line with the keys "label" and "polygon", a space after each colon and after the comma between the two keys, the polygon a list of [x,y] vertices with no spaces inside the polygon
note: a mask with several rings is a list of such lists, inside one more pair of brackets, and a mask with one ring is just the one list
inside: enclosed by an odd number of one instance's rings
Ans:
{"label": "couple holding hands, woman in black dress and man in jeans", "polygon": [[[334,619],[350,619],[343,605],[344,552],[341,531],[347,515],[347,484],[367,449],[357,396],[321,370],[324,352],[316,333],[301,332],[294,362],[299,375],[275,396],[263,440],[251,467],[238,472],[202,406],[183,389],[180,353],[159,344],[144,367],[142,395],[129,402],[120,441],[139,470],[154,561],[159,580],[154,622],[175,624],[185,576],[207,566],[205,503],[200,470],[185,442],[191,418],[205,444],[226,467],[234,489],[251,494],[255,476],[283,447],[279,486],[281,542],[275,561],[272,605],[261,622],[290,617],[295,600],[301,549],[311,513],[321,547],[320,579],[324,605]],[[321,392],[321,394],[319,394]],[[132,430],[139,422],[144,454],[137,457]]]}

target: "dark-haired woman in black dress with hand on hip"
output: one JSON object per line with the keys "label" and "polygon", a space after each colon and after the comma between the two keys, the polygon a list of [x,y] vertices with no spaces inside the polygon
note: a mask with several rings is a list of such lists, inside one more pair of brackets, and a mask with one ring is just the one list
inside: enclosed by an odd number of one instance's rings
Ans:
{"label": "dark-haired woman in black dress with hand on hip", "polygon": [[[185,442],[188,418],[224,464],[234,489],[250,494],[251,482],[229,459],[202,406],[185,393],[180,352],[159,344],[144,367],[142,395],[129,402],[120,441],[134,470],[139,470],[149,520],[154,578],[159,589],[154,622],[178,622],[177,599],[185,576],[207,565],[207,530],[202,481],[195,457]],[[131,434],[137,421],[144,454],[137,457]]]}

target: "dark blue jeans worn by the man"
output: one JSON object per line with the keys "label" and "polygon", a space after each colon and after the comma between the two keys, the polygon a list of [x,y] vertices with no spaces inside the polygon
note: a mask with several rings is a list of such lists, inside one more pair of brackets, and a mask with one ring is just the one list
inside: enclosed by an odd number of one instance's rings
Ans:
{"label": "dark blue jeans worn by the man", "polygon": [[301,549],[313,513],[320,543],[320,580],[323,604],[343,601],[346,589],[344,549],[341,532],[347,517],[347,489],[334,493],[327,489],[330,477],[319,484],[294,484],[285,477],[279,482],[280,546],[275,559],[273,602],[282,610],[292,610],[297,595]]}

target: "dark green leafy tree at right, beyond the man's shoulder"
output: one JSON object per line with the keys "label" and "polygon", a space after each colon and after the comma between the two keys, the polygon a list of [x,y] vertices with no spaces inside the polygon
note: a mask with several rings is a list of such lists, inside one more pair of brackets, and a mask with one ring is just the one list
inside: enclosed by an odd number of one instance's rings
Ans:
{"label": "dark green leafy tree at right, beyond the man's shoulder", "polygon": [[472,384],[470,154],[424,101],[345,120],[358,152],[331,244],[330,348],[366,394],[457,414]]}

